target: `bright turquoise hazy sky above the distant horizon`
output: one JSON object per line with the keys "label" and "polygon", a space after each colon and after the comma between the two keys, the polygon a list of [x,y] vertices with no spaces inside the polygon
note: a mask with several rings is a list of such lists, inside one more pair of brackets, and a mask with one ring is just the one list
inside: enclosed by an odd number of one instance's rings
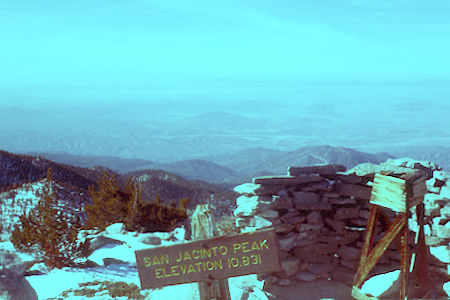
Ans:
{"label": "bright turquoise hazy sky above the distant horizon", "polygon": [[0,0],[0,88],[449,80],[449,16],[448,0]]}

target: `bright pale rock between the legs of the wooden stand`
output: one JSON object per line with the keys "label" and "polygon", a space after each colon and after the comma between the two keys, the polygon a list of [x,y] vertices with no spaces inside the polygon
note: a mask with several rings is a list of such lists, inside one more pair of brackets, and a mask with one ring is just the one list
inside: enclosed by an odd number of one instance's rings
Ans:
{"label": "bright pale rock between the legs of the wooden stand", "polygon": [[400,270],[379,274],[366,280],[361,287],[361,292],[374,297],[387,297],[397,295],[400,290]]}

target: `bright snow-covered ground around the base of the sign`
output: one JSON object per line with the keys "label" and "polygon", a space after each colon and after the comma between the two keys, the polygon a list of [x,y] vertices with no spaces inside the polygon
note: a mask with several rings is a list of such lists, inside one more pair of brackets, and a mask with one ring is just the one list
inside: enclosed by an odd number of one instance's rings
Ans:
{"label": "bright snow-covered ground around the base of the sign", "polygon": [[[100,235],[123,242],[123,244],[107,244],[96,250],[89,259],[96,262],[98,267],[91,268],[63,268],[45,270],[42,264],[35,265],[33,269],[44,270],[43,275],[27,276],[27,280],[36,290],[39,299],[61,298],[61,293],[69,289],[79,289],[80,283],[99,281],[124,281],[134,283],[140,286],[138,271],[136,268],[135,250],[156,247],[144,244],[146,237],[151,235],[161,238],[161,245],[167,246],[176,243],[184,243],[184,229],[177,228],[171,233],[147,233],[138,234],[126,232],[121,224],[115,224],[108,227]],[[18,253],[14,250],[11,242],[1,242],[0,248],[16,252],[23,260],[33,260],[33,257],[24,253]],[[104,265],[103,259],[113,258],[122,263]],[[267,298],[262,291],[263,281],[259,281],[256,275],[247,275],[229,279],[231,299],[241,299],[244,293],[249,294],[249,299]],[[199,299],[197,283],[188,283],[167,286],[159,289],[143,290],[146,299],[152,300],[172,300],[172,299]],[[70,295],[70,294],[69,294]],[[86,299],[85,296],[70,295],[70,299]],[[121,297],[127,299],[126,297]],[[98,293],[92,299],[112,299],[108,295]],[[120,299],[120,298],[116,298]]]}

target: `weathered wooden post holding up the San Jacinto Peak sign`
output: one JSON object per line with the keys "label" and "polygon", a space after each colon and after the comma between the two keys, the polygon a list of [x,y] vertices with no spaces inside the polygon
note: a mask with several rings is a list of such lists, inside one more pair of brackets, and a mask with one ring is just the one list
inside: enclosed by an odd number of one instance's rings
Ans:
{"label": "weathered wooden post holding up the San Jacinto Peak sign", "polygon": [[[191,221],[192,239],[202,240],[216,236],[214,216],[208,204],[197,205]],[[228,279],[198,283],[200,300],[231,300]]]}

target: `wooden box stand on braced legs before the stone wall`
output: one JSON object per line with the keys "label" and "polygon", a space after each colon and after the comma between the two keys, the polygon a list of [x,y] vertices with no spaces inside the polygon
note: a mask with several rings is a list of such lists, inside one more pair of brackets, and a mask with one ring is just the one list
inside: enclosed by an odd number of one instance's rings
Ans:
{"label": "wooden box stand on braced legs before the stone wall", "polygon": [[[361,287],[370,271],[391,243],[395,243],[401,253],[400,262],[400,299],[407,298],[408,278],[410,275],[411,249],[409,243],[408,218],[410,209],[416,207],[419,230],[416,236],[416,255],[413,273],[420,285],[419,293],[427,292],[427,250],[424,236],[424,205],[426,193],[426,174],[420,170],[402,168],[401,172],[377,173],[374,178],[369,201],[370,214],[358,271],[354,277],[352,297],[354,299],[377,299],[361,292]],[[382,207],[396,212],[397,216],[391,222]],[[377,221],[381,220],[388,229],[384,236],[374,244]],[[400,243],[398,243],[400,237]]]}

